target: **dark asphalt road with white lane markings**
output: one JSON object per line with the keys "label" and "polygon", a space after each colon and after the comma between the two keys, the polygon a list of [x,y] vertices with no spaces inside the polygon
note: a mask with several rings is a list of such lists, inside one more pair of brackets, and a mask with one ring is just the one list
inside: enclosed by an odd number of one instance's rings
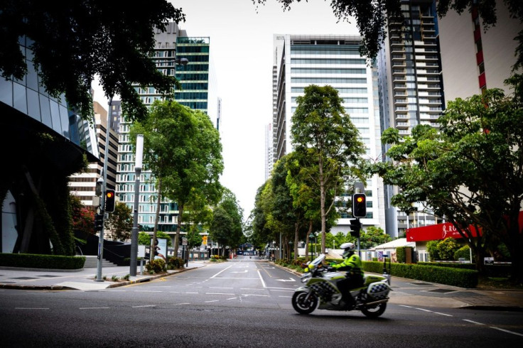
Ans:
{"label": "dark asphalt road with white lane markings", "polygon": [[[107,290],[0,291],[2,347],[520,346],[520,312],[389,303],[361,312],[291,306],[297,276],[248,256]],[[394,286],[399,292],[403,285]],[[427,297],[430,300],[430,297]]]}

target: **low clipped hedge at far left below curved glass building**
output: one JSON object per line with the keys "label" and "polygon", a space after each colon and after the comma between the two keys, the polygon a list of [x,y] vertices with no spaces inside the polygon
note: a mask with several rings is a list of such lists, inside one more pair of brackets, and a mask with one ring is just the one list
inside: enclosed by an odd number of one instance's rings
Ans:
{"label": "low clipped hedge at far left below curved glass building", "polygon": [[80,269],[85,256],[61,256],[40,254],[0,254],[0,266],[48,269]]}

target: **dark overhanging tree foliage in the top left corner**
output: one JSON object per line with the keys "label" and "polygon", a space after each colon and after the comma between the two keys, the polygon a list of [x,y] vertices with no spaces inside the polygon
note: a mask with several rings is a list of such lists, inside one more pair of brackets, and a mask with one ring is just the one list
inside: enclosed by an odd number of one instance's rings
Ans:
{"label": "dark overhanging tree foliage in the top left corner", "polygon": [[153,86],[160,94],[180,87],[151,59],[155,28],[164,31],[168,21],[185,21],[185,15],[166,0],[152,0],[143,8],[122,1],[2,1],[1,75],[8,79],[26,75],[25,54],[18,45],[19,38],[26,37],[50,95],[65,93],[70,107],[91,119],[90,89],[98,76],[107,97],[119,94],[127,118],[144,119],[147,109],[133,82]]}

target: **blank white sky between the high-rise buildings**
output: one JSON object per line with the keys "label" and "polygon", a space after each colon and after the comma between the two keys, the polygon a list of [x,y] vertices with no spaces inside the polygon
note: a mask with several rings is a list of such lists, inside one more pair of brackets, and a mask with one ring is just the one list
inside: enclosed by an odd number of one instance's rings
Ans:
{"label": "blank white sky between the high-rise buildings", "polygon": [[[357,35],[355,22],[336,23],[330,1],[302,0],[283,11],[276,0],[174,0],[185,13],[180,29],[210,38],[222,98],[221,183],[236,195],[246,219],[265,180],[265,125],[272,121],[273,34]],[[95,100],[107,106],[101,89]]]}

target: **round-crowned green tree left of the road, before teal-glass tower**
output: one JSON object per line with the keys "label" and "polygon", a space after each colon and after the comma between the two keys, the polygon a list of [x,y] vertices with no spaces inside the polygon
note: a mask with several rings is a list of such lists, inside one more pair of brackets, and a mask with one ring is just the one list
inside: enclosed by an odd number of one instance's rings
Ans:
{"label": "round-crowned green tree left of the road, before teal-glass tower", "polygon": [[136,139],[137,134],[144,135],[144,163],[156,180],[153,239],[158,231],[160,202],[167,197],[178,203],[174,245],[178,250],[185,205],[203,199],[212,205],[222,194],[220,134],[207,114],[168,100],[153,102],[149,117],[136,122],[130,134],[131,139]]}

